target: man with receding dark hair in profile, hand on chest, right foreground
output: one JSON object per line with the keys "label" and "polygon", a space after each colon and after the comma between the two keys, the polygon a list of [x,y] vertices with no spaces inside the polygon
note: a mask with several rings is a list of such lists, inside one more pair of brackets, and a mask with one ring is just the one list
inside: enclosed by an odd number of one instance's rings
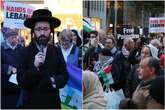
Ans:
{"label": "man with receding dark hair in profile, hand on chest, right foreground", "polygon": [[149,99],[149,88],[151,82],[155,79],[156,74],[159,72],[160,64],[159,60],[153,57],[147,57],[140,62],[138,68],[138,77],[142,81],[137,86],[133,93],[132,100],[135,102],[138,108],[147,108],[147,103]]}

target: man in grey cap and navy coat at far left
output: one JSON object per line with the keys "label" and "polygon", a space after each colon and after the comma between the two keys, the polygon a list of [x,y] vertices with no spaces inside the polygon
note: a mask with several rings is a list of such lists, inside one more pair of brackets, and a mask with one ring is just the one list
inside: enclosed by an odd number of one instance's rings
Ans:
{"label": "man in grey cap and navy coat at far left", "polygon": [[[2,108],[16,108],[20,89],[11,81],[23,62],[23,47],[18,44],[18,30],[6,28],[5,41],[1,44],[1,92]],[[16,77],[15,77],[16,78]]]}

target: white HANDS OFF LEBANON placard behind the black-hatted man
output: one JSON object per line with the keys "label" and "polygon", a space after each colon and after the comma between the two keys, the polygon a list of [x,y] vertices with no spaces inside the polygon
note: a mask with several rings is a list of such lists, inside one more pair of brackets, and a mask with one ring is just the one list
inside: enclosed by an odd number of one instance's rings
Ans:
{"label": "white HANDS OFF LEBANON placard behind the black-hatted man", "polygon": [[27,4],[5,2],[4,3],[4,27],[24,28],[24,20],[30,18],[34,7]]}

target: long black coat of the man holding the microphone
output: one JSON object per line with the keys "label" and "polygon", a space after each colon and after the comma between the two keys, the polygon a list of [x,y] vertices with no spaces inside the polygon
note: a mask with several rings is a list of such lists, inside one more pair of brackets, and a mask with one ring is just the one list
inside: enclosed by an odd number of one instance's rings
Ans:
{"label": "long black coat of the man holding the microphone", "polygon": [[[34,66],[35,55],[39,52],[35,44],[26,48],[25,63],[19,71],[17,80],[27,92],[25,108],[60,108],[59,89],[68,81],[68,73],[62,53],[55,46],[48,45],[45,63]],[[52,87],[50,77],[54,77],[56,88]]]}

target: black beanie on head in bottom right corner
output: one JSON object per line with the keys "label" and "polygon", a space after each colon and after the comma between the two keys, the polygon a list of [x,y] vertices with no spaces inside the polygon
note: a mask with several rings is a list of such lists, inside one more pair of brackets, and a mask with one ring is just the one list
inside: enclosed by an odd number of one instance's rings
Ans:
{"label": "black beanie on head in bottom right corner", "polygon": [[149,94],[158,103],[164,105],[164,76],[158,76],[152,81]]}

